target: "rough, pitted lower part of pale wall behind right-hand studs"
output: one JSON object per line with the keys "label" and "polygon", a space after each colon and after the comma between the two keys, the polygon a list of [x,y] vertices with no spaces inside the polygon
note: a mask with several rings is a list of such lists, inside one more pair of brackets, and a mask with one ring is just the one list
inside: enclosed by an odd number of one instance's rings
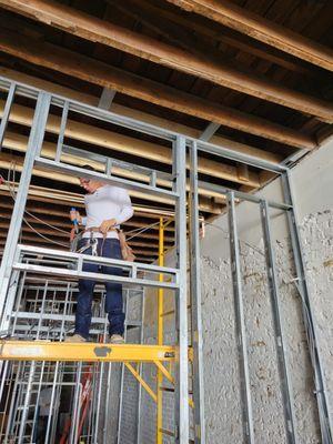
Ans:
{"label": "rough, pitted lower part of pale wall behind right-hand studs", "polygon": [[[310,293],[332,405],[332,212],[304,219],[301,236]],[[228,241],[222,238],[222,244]],[[222,246],[222,245],[221,245]],[[259,443],[285,443],[283,402],[275,352],[273,320],[262,244],[241,243],[243,302],[254,434]],[[218,248],[218,246],[216,246]],[[274,244],[282,326],[294,397],[295,430],[300,443],[321,443],[313,375],[302,320],[301,301],[287,239]],[[208,443],[242,443],[238,356],[234,337],[233,293],[229,260],[202,258],[202,315],[205,363]]]}

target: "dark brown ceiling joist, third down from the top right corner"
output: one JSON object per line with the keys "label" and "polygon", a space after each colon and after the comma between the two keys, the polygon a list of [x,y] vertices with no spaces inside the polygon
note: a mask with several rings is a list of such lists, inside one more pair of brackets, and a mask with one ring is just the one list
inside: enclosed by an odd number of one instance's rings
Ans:
{"label": "dark brown ceiling joist, third down from the top right corner", "polygon": [[[243,132],[268,138],[291,147],[313,149],[316,141],[299,131],[246,114],[229,107],[182,92],[159,82],[143,79],[89,57],[64,50],[50,43],[32,41],[18,33],[0,31],[0,50],[69,75],[114,89],[148,102],[176,110]],[[307,110],[309,111],[309,110]],[[329,120],[332,120],[332,113]]]}

